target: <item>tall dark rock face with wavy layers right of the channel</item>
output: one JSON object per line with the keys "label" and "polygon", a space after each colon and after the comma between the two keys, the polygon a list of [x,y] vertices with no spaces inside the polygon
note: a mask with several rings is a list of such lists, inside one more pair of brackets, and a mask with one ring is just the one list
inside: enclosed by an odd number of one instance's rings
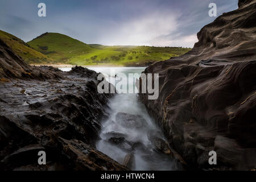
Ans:
{"label": "tall dark rock face with wavy layers right of the channel", "polygon": [[203,27],[192,51],[144,71],[159,73],[159,98],[139,96],[191,168],[256,166],[256,1],[238,6]]}

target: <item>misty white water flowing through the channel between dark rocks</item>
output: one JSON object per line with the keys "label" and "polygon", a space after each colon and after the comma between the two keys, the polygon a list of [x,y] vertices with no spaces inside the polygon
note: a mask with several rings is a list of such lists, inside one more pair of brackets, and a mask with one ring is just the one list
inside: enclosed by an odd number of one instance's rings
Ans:
{"label": "misty white water flowing through the channel between dark rocks", "polygon": [[[71,68],[59,69],[63,71],[71,70]],[[128,75],[129,73],[141,74],[145,68],[89,67],[88,69],[110,76],[110,70],[114,71],[115,74],[125,73],[125,75]],[[112,79],[108,81],[116,84]],[[125,81],[127,81],[127,89],[135,85],[135,79],[131,80],[127,78]],[[146,107],[138,100],[138,94],[115,94],[114,97],[110,98],[108,106],[106,111],[108,111],[109,117],[101,122],[101,139],[96,144],[97,150],[121,164],[123,164],[125,158],[127,159],[127,156],[130,156],[129,167],[133,170],[177,169],[174,160],[170,156],[155,150],[155,146],[148,140],[148,134],[150,133],[158,133],[162,139],[164,137],[162,131],[160,131],[148,115]],[[144,118],[142,121],[146,123],[139,128],[126,127],[122,125],[123,123],[117,121],[116,117],[118,113],[134,114],[137,118]],[[110,136],[114,136],[114,138],[111,140]],[[134,147],[133,144],[136,144],[138,147]]]}

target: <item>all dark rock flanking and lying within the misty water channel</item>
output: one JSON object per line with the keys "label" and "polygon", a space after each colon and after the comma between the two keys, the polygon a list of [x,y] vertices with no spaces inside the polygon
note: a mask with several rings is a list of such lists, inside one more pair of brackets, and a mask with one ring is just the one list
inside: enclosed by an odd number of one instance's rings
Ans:
{"label": "all dark rock flanking and lying within the misty water channel", "polygon": [[[154,132],[147,138],[181,169],[255,169],[256,0],[238,6],[202,28],[192,51],[144,71],[159,73],[159,98],[139,98],[168,142]],[[97,92],[97,76],[82,67],[27,65],[0,39],[0,170],[129,170],[140,143],[106,134],[129,147],[123,165],[95,148],[113,96]],[[116,120],[144,127],[138,115],[118,113]],[[212,150],[216,166],[208,163]],[[39,151],[46,165],[38,165]]]}

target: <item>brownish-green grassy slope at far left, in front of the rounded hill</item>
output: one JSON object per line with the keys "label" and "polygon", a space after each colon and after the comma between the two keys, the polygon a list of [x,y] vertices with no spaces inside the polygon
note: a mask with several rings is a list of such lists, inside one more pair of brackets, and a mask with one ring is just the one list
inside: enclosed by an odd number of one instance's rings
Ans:
{"label": "brownish-green grassy slope at far left, in front of the rounded hill", "polygon": [[22,57],[27,63],[51,63],[52,59],[47,57],[41,52],[36,51],[31,48],[27,43],[23,42],[23,40],[17,38],[14,35],[8,34],[7,32],[0,30],[0,39],[3,40],[7,44],[7,46],[11,47],[14,52]]}

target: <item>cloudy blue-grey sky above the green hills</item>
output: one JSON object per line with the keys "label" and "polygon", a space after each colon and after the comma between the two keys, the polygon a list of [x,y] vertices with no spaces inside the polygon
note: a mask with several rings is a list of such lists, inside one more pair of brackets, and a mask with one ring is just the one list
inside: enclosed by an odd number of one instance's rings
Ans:
{"label": "cloudy blue-grey sky above the green hills", "polygon": [[[197,32],[237,0],[1,0],[0,30],[28,42],[58,32],[87,44],[193,47]],[[38,4],[46,4],[46,17]]]}

